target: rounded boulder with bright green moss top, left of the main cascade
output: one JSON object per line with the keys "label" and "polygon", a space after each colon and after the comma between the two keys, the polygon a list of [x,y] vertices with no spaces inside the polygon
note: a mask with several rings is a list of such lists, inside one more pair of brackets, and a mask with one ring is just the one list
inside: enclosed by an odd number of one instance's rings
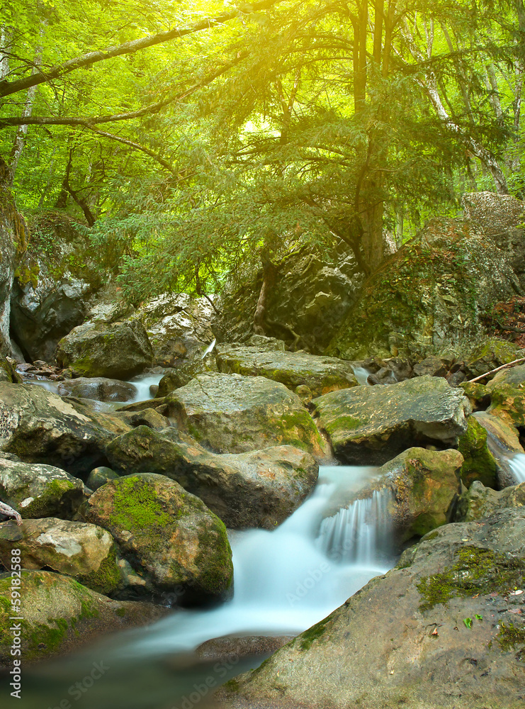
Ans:
{"label": "rounded boulder with bright green moss top, left of the main cascade", "polygon": [[112,480],[81,508],[107,529],[151,591],[181,591],[187,601],[222,598],[232,585],[225,525],[203,501],[164,475]]}

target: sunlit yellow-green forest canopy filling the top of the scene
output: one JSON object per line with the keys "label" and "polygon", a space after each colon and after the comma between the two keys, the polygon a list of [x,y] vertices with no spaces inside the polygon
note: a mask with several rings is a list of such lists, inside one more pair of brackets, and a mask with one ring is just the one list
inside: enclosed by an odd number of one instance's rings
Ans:
{"label": "sunlit yellow-green forest canopy filling the top of the scene", "polygon": [[465,190],[522,196],[522,0],[17,0],[0,154],[130,298],[303,243],[369,273]]}

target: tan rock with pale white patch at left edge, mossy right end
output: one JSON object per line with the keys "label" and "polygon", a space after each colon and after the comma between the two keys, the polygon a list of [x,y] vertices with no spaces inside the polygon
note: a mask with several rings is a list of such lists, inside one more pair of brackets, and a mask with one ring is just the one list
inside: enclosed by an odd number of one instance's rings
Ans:
{"label": "tan rock with pale white patch at left edge, mossy right end", "polygon": [[0,524],[0,562],[9,569],[11,549],[20,549],[23,569],[73,576],[93,591],[112,596],[123,587],[118,549],[102,527],[57,518]]}

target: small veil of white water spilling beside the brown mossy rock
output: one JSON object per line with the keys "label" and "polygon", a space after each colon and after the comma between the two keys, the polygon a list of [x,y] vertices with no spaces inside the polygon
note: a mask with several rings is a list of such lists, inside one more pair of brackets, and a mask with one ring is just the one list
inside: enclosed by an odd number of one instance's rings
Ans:
{"label": "small veil of white water spilling beside the brown mossy rock", "polygon": [[370,498],[356,500],[322,520],[317,548],[343,564],[378,566],[391,556],[392,520],[388,511],[392,492],[374,490]]}

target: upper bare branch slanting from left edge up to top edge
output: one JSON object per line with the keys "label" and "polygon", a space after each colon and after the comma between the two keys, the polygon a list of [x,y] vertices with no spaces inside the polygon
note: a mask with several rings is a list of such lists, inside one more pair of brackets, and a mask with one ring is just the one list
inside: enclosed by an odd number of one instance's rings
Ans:
{"label": "upper bare branch slanting from left edge up to top edge", "polygon": [[107,47],[106,49],[98,50],[96,52],[88,52],[87,54],[79,57],[74,57],[74,59],[69,59],[67,62],[62,62],[62,64],[57,64],[54,67],[50,67],[50,69],[43,69],[40,67],[40,72],[38,74],[32,74],[28,77],[24,77],[23,79],[16,79],[16,81],[13,82],[7,82],[5,80],[0,82],[0,97],[10,96],[11,94],[16,94],[18,91],[25,91],[31,86],[45,84],[50,82],[51,79],[58,79],[63,77],[64,74],[69,74],[70,72],[74,72],[76,69],[81,69],[82,67],[90,67],[91,65],[96,64],[96,62],[105,62],[108,59],[113,59],[113,57],[133,54],[134,52],[147,47],[153,47],[154,45],[169,42],[169,40],[180,39],[181,37],[184,37],[184,35],[189,35],[193,32],[200,32],[201,30],[210,29],[228,22],[235,17],[249,15],[252,12],[257,12],[259,10],[269,9],[273,5],[282,1],[283,0],[260,0],[259,2],[249,5],[243,4],[240,8],[235,8],[235,10],[223,13],[217,17],[205,18],[187,28],[176,27],[173,30],[159,32],[156,35],[147,35],[146,37],[131,40],[130,42],[125,42],[121,45],[117,45],[116,47]]}

